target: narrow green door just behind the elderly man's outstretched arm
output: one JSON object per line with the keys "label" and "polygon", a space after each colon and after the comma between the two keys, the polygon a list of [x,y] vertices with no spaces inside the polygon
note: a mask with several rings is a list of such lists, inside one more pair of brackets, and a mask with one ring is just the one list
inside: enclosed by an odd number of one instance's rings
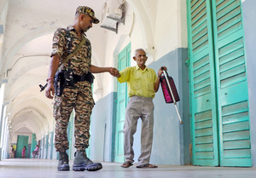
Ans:
{"label": "narrow green door just behind the elderly man's outstretched arm", "polygon": [[[131,58],[131,43],[119,53],[119,71],[130,66]],[[125,108],[128,103],[127,83],[118,83],[117,92],[117,117],[116,117],[116,136],[115,136],[115,162],[123,163],[124,156],[124,123],[125,123]]]}

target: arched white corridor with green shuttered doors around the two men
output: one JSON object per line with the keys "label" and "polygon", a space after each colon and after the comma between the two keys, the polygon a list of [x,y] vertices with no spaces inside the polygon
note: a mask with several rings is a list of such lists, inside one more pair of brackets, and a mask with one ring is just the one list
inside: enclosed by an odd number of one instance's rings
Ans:
{"label": "arched white corridor with green shuttered doors around the two men", "polygon": [[[121,12],[121,17],[111,19],[106,4],[109,12]],[[80,5],[94,9],[100,20],[86,32],[92,65],[119,69],[125,61],[125,67],[136,66],[134,51],[145,49],[146,66],[156,73],[166,66],[176,84],[183,125],[174,105],[166,104],[161,88],[153,100],[150,164],[159,169],[120,168],[125,161],[121,118],[129,97],[127,86],[122,90],[117,78],[104,72],[95,74],[92,86],[96,105],[86,149],[103,169],[57,172],[54,100],[46,98],[38,85],[48,78],[54,32],[73,24]],[[28,172],[30,177],[214,177],[218,171],[224,177],[253,176],[256,11],[252,7],[256,7],[254,0],[1,0],[0,177],[15,176],[14,171]],[[71,167],[76,152],[75,117],[73,111],[67,126]],[[141,127],[139,119],[135,164],[141,152]],[[37,145],[38,155],[33,159]],[[15,148],[15,158],[10,158],[10,146]],[[23,146],[26,159],[20,159]]]}

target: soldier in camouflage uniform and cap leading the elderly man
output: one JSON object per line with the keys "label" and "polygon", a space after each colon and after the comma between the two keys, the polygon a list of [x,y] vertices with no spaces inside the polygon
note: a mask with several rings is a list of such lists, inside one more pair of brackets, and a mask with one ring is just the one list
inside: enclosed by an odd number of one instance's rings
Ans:
{"label": "soldier in camouflage uniform and cap leading the elderly man", "polygon": [[[76,9],[75,20],[72,26],[67,29],[59,28],[53,37],[53,47],[49,65],[48,86],[45,91],[46,97],[53,99],[55,95],[54,80],[58,66],[67,55],[72,54],[79,43],[84,39],[84,32],[87,32],[92,23],[97,24],[94,11],[86,6],[79,6]],[[73,75],[84,76],[88,72],[109,72],[113,75],[116,69],[112,67],[97,67],[91,65],[91,46],[89,39],[86,38],[84,45],[68,60],[62,69],[72,68]],[[91,83],[80,81],[74,86],[65,86],[61,96],[55,95],[54,117],[55,117],[55,148],[60,152],[58,170],[69,170],[67,141],[67,124],[70,114],[75,110],[75,144],[77,148],[73,162],[73,170],[98,170],[102,169],[102,164],[93,163],[87,158],[85,148],[89,146],[90,139],[90,114],[94,106],[91,94]]]}

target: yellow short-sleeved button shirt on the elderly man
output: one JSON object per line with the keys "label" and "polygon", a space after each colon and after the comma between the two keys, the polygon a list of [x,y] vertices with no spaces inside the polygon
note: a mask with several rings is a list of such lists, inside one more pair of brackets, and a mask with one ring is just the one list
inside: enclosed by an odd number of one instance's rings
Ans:
{"label": "yellow short-sleeved button shirt on the elderly man", "polygon": [[138,95],[148,98],[154,98],[154,83],[157,76],[154,69],[145,67],[142,70],[139,66],[128,66],[121,72],[121,77],[118,78],[119,83],[127,82],[129,97]]}

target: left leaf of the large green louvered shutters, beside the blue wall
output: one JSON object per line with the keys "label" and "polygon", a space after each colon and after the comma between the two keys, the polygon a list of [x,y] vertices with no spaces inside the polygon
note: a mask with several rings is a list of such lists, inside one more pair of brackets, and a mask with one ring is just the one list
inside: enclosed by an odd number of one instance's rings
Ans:
{"label": "left leaf of the large green louvered shutters, beside the blue wall", "polygon": [[194,165],[218,165],[216,86],[210,0],[187,0]]}

